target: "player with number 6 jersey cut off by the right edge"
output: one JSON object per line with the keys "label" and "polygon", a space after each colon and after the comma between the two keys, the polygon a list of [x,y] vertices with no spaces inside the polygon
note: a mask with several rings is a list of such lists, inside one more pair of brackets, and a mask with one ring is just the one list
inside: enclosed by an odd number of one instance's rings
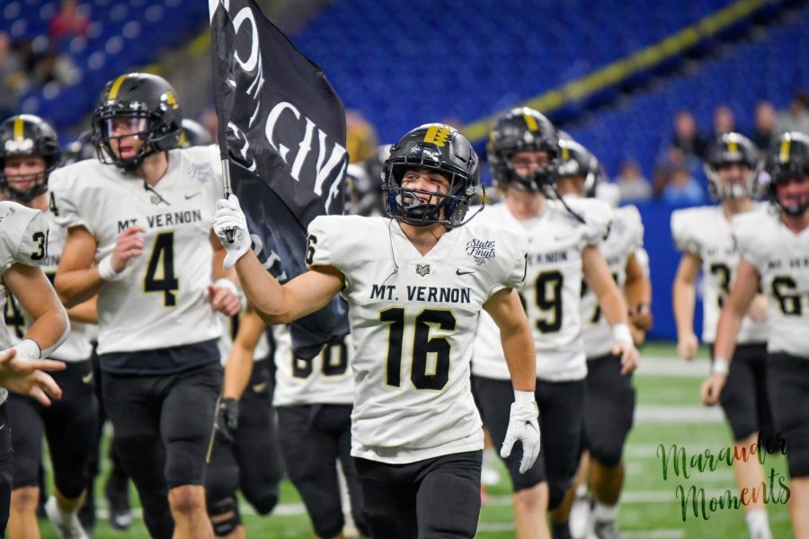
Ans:
{"label": "player with number 6 jersey cut off by the right edge", "polygon": [[[809,137],[785,133],[767,155],[770,207],[735,216],[740,261],[716,326],[714,366],[702,399],[715,404],[732,384],[738,336],[759,291],[769,297],[767,389],[776,436],[760,446],[787,455],[789,514],[796,537],[809,537]],[[729,367],[730,366],[730,367]],[[730,374],[728,373],[730,371]],[[752,395],[748,394],[748,398]],[[783,478],[781,489],[787,487]]]}

